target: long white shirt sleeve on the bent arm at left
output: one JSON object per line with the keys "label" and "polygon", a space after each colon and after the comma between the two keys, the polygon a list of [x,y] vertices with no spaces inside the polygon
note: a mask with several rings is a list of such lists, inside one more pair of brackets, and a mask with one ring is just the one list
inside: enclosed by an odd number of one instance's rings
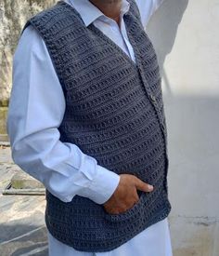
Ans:
{"label": "long white shirt sleeve on the bent arm at left", "polygon": [[64,202],[74,195],[105,203],[120,176],[71,142],[59,141],[65,98],[45,41],[30,25],[13,56],[6,129],[14,162]]}

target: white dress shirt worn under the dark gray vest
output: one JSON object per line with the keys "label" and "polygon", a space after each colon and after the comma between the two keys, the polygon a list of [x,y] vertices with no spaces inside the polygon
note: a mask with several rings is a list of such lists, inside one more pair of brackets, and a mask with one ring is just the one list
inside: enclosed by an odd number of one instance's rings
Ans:
{"label": "white dress shirt worn under the dark gray vest", "polygon": [[[135,54],[121,27],[88,0],[65,0],[80,13],[84,24],[91,22],[107,34],[135,61]],[[162,0],[136,0],[144,27]],[[121,18],[129,9],[122,0]],[[82,195],[103,204],[115,191],[120,176],[97,164],[70,142],[59,141],[58,126],[65,112],[65,98],[45,42],[31,26],[19,38],[13,58],[12,90],[6,128],[16,164],[64,202]],[[107,182],[106,182],[107,181]],[[167,218],[155,223],[117,249],[91,253],[73,249],[48,232],[51,256],[171,256]]]}

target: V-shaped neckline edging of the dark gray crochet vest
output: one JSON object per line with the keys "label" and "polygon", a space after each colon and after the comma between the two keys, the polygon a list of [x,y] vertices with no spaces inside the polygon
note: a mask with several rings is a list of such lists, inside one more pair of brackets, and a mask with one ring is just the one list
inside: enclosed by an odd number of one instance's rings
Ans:
{"label": "V-shaped neckline edging of the dark gray crochet vest", "polygon": [[[71,8],[71,9],[79,16],[79,18],[82,20],[82,22],[84,23],[84,20],[82,19],[80,13],[75,9],[75,7],[73,7],[73,6],[71,6],[70,4],[66,3],[64,0],[59,0],[58,3],[59,3],[59,4],[62,4],[62,5],[65,5],[65,7]],[[128,11],[128,12],[129,12],[129,11]],[[124,14],[124,15],[126,15],[126,14]],[[126,24],[125,24],[125,21],[124,21],[124,25],[125,25],[125,29],[126,29],[126,32],[127,32],[127,35],[128,35],[129,32],[128,32],[128,30],[127,30],[127,26],[126,26]],[[133,44],[132,44],[132,42],[131,42],[132,40],[130,39],[130,36],[129,36],[129,35],[128,35],[128,38],[129,38],[129,41],[130,41],[131,46],[132,46],[133,49],[134,49],[135,61],[136,61],[136,62],[133,61],[132,58],[129,57],[129,56],[122,50],[121,47],[119,47],[113,40],[111,40],[108,35],[104,34],[101,30],[99,30],[99,29],[93,24],[93,22],[92,22],[91,24],[89,24],[88,26],[86,26],[86,25],[84,24],[84,26],[85,26],[86,29],[89,29],[89,27],[90,27],[90,29],[93,30],[93,31],[95,31],[103,40],[107,41],[107,42],[110,44],[111,47],[114,47],[114,48],[122,55],[122,57],[123,57],[125,60],[129,61],[136,69],[138,69],[138,61],[137,61],[137,56],[136,56],[137,54],[136,54],[136,52],[135,52],[135,47],[133,46]]]}

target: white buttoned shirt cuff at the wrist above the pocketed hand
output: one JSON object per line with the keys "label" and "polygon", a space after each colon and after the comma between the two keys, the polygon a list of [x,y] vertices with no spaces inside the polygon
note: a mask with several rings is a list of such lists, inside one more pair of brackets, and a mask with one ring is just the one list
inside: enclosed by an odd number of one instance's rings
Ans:
{"label": "white buttoned shirt cuff at the wrist above the pocketed hand", "polygon": [[[97,174],[80,195],[88,197],[97,204],[104,204],[110,199],[120,182],[120,175],[97,165]],[[79,195],[79,194],[78,194]]]}

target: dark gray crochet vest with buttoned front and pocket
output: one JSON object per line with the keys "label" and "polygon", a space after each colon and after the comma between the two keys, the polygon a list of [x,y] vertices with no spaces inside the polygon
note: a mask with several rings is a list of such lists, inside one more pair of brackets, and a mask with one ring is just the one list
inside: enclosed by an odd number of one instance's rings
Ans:
{"label": "dark gray crochet vest with buttoned front and pocket", "polygon": [[46,190],[47,229],[82,251],[116,249],[171,211],[159,65],[135,1],[128,1],[124,22],[136,64],[94,24],[86,27],[63,1],[37,13],[23,28],[32,24],[45,40],[64,91],[60,141],[77,144],[111,171],[154,185],[151,193],[138,191],[139,201],[121,214],[109,214],[79,195],[65,203]]}

